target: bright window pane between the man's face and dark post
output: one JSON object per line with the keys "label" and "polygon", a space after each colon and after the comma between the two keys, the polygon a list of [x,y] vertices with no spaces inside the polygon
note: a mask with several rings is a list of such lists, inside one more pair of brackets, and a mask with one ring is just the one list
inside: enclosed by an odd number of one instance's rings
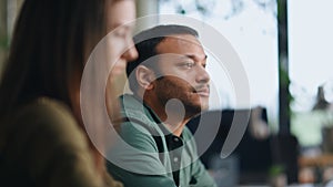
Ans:
{"label": "bright window pane between the man's face and dark post", "polygon": [[[179,13],[195,18],[224,35],[245,69],[251,91],[250,105],[266,107],[269,121],[276,127],[279,83],[275,0],[160,0],[159,11],[161,14]],[[212,61],[214,58],[209,55],[208,71],[212,81],[219,82],[218,93],[222,97],[221,103],[212,103],[212,108],[244,107],[235,101],[232,83],[221,73],[223,70]]]}

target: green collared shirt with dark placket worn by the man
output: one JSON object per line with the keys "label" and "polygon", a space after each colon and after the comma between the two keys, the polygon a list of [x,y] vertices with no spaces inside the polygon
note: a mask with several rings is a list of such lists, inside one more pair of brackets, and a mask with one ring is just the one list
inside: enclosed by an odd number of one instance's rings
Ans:
{"label": "green collared shirt with dark placket worn by the man", "polygon": [[173,135],[152,110],[132,95],[121,97],[121,139],[109,152],[109,172],[125,187],[215,187],[198,158],[191,132]]}

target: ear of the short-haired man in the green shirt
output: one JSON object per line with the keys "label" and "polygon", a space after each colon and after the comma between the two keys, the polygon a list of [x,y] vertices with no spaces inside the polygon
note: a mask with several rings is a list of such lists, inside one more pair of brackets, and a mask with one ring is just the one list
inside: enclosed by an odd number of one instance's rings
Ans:
{"label": "ear of the short-haired man in the green shirt", "polygon": [[153,89],[152,82],[155,80],[155,73],[151,69],[144,65],[139,65],[135,71],[135,75],[141,87],[145,90]]}

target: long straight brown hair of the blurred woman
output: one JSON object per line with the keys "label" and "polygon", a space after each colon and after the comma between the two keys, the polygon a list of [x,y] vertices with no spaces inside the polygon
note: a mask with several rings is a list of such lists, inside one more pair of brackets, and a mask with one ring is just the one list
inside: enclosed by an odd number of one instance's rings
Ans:
{"label": "long straight brown hair of the blurred woman", "polygon": [[59,100],[73,113],[80,108],[73,95],[79,96],[90,52],[105,34],[104,1],[24,0],[1,73],[0,122],[40,96]]}

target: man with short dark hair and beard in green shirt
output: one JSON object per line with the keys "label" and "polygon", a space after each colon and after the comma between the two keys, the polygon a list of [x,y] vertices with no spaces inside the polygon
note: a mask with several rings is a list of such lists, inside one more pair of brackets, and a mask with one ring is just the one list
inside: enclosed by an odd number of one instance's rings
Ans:
{"label": "man with short dark hair and beard in green shirt", "polygon": [[159,25],[134,37],[127,66],[133,95],[121,97],[121,141],[109,170],[125,187],[215,187],[185,124],[209,105],[210,76],[198,32]]}

